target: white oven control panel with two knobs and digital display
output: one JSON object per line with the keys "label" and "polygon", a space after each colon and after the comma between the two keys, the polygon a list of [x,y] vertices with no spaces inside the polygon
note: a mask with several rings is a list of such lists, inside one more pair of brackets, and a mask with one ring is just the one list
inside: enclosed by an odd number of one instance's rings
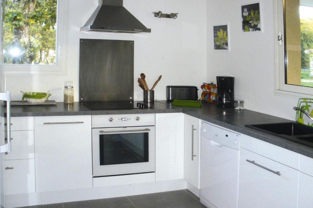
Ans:
{"label": "white oven control panel with two knobs and digital display", "polygon": [[93,115],[92,128],[154,126],[155,114]]}

